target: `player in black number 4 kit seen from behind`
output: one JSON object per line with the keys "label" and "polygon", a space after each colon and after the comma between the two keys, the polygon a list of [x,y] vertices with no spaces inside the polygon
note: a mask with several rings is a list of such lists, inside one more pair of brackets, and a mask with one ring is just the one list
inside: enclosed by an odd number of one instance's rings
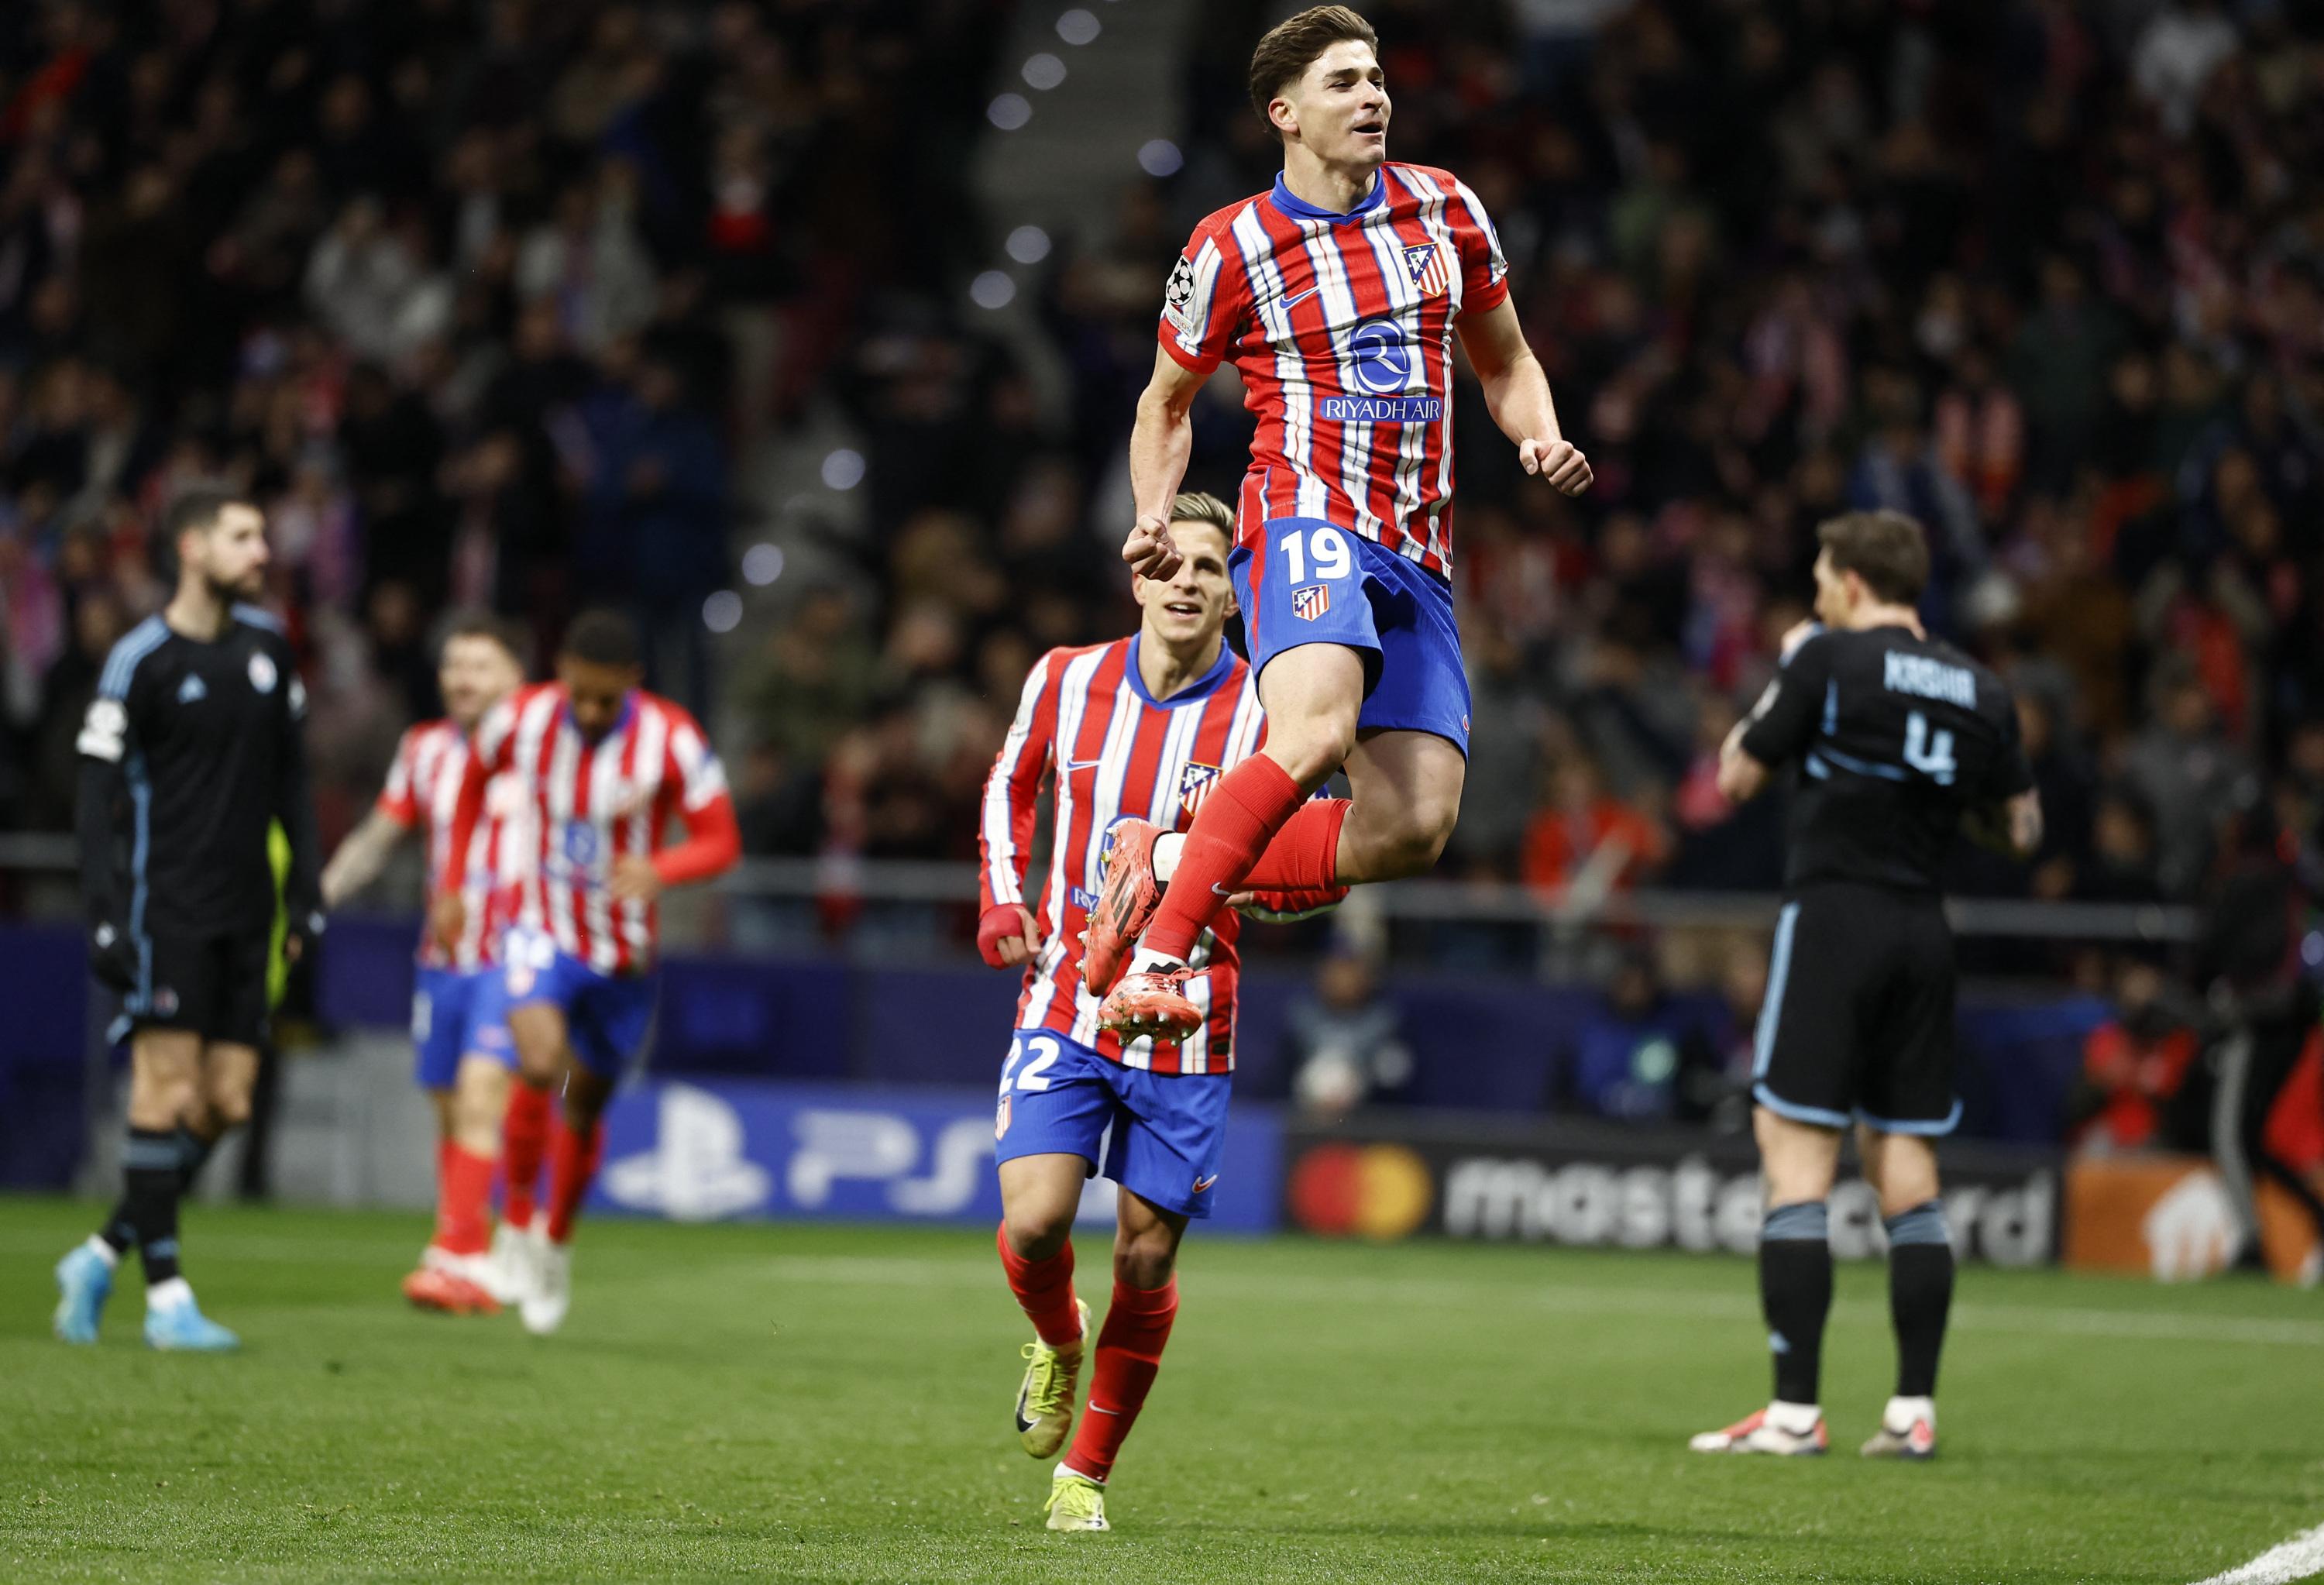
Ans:
{"label": "player in black number 4 kit seen from behind", "polygon": [[1720,753],[1743,802],[1796,765],[1787,902],[1776,920],[1752,1050],[1752,1129],[1766,1181],[1759,1301],[1776,1401],[1694,1439],[1697,1453],[1822,1453],[1817,1406],[1831,1308],[1827,1209],[1855,1127],[1889,1241],[1896,1394],[1866,1457],[1936,1453],[1936,1355],[1952,1243],[1936,1146],[1952,1095],[1952,932],[1936,890],[1952,834],[2017,858],[2040,846],[2040,797],[2008,686],[1931,639],[1920,523],[1852,511],[1817,530],[1815,614]]}

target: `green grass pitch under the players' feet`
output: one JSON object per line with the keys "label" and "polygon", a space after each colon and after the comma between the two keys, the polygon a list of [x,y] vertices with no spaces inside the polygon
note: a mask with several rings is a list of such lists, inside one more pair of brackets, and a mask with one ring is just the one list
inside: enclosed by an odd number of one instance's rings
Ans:
{"label": "green grass pitch under the players' feet", "polygon": [[193,1211],[246,1348],[177,1357],[135,1276],[49,1339],[91,1218],[0,1199],[7,1578],[2182,1583],[2324,1520],[2324,1308],[2259,1285],[1968,1271],[1943,1457],[1896,1466],[1845,1269],[1836,1457],[1713,1460],[1766,1392],[1745,1262],[1197,1236],[1118,1529],[1067,1539],[976,1229],[597,1222],[539,1341],[397,1301],[418,1218]]}

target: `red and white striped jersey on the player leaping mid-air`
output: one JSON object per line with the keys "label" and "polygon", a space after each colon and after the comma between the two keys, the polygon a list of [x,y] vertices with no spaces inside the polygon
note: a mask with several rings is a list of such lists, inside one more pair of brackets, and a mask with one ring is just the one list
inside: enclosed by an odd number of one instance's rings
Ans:
{"label": "red and white striped jersey on the player leaping mid-air", "polygon": [[1171,270],[1162,351],[1232,360],[1257,414],[1239,537],[1327,518],[1452,567],[1452,321],[1508,297],[1501,239],[1450,172],[1383,165],[1348,214],[1271,193],[1206,216]]}

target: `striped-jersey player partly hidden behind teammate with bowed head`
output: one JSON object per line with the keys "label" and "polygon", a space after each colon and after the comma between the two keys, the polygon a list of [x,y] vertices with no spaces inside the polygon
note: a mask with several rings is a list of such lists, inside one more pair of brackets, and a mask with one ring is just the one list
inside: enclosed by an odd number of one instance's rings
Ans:
{"label": "striped-jersey player partly hidden behind teammate with bowed head", "polygon": [[437,1222],[418,1271],[404,1278],[404,1297],[453,1315],[490,1315],[504,1292],[507,1262],[488,1255],[488,1229],[500,1118],[509,1106],[509,1023],[500,939],[488,920],[495,888],[516,874],[516,853],[500,818],[504,806],[493,809],[490,799],[465,851],[451,846],[451,825],[469,739],[486,711],[523,681],[525,662],[504,623],[476,616],[453,625],[437,665],[446,716],[404,732],[372,813],[323,867],[323,906],[337,909],[379,876],[404,837],[425,827],[428,895],[456,888],[467,897],[456,944],[421,932],[411,990],[411,1076],[437,1113]]}

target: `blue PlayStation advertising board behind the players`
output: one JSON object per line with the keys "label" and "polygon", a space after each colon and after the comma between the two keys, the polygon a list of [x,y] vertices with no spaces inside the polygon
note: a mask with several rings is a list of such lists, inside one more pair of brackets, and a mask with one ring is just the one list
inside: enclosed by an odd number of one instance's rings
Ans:
{"label": "blue PlayStation advertising board behind the players", "polygon": [[[651,1078],[607,1113],[600,1211],[851,1222],[997,1222],[990,1090]],[[1283,1129],[1239,1106],[1208,1227],[1271,1232]],[[1092,1185],[1095,1202],[1111,1185]],[[1092,1199],[1083,1199],[1092,1206]]]}

